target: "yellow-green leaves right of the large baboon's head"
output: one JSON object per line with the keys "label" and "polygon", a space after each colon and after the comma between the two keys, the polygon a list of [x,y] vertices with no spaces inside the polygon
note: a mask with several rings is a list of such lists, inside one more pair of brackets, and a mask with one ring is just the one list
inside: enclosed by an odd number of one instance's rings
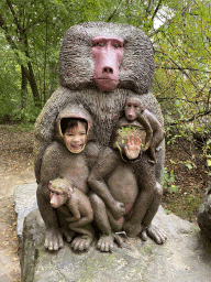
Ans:
{"label": "yellow-green leaves right of the large baboon's head", "polygon": [[211,110],[210,1],[173,0],[168,9],[173,11],[170,20],[153,36],[153,88],[165,111],[167,137],[171,134],[173,141],[189,139],[193,132],[210,132],[208,124],[199,122]]}

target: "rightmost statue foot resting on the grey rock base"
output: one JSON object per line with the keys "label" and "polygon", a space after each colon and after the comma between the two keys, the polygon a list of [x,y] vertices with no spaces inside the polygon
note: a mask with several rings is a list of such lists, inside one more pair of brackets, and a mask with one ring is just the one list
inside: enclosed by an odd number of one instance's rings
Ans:
{"label": "rightmost statue foot resting on the grey rock base", "polygon": [[167,239],[166,232],[156,226],[147,227],[146,230],[141,232],[141,238],[143,241],[146,241],[148,237],[159,245],[164,243]]}

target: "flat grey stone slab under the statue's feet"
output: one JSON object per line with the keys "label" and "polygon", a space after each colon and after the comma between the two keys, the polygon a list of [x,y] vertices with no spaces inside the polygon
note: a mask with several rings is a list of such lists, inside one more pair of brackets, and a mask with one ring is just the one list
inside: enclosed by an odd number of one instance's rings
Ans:
{"label": "flat grey stone slab under the statue's feet", "polygon": [[[30,200],[27,194],[25,197]],[[112,253],[97,251],[95,243],[84,253],[74,252],[68,243],[59,251],[48,252],[43,247],[44,223],[35,209],[24,221],[22,282],[210,281],[211,243],[200,229],[175,215],[166,215],[162,207],[154,224],[168,234],[163,246],[136,238],[129,239]]]}

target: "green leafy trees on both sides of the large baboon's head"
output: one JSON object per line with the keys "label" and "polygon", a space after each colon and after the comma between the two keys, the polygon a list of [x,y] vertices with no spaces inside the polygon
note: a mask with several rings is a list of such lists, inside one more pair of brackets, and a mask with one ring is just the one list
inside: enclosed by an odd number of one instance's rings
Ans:
{"label": "green leafy trees on both sides of the large baboon's head", "polygon": [[0,102],[16,105],[20,116],[43,106],[57,88],[59,43],[70,25],[85,21],[126,22],[148,34],[154,94],[168,128],[185,134],[181,124],[210,113],[209,0],[3,0],[0,8]]}

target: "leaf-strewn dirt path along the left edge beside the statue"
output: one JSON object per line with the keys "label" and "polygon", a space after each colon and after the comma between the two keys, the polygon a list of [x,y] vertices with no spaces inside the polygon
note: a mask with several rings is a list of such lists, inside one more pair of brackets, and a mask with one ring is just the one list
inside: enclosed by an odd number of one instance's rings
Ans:
{"label": "leaf-strewn dirt path along the left edge beside the statue", "polygon": [[32,149],[32,132],[0,126],[0,281],[21,281],[13,188],[35,182]]}

